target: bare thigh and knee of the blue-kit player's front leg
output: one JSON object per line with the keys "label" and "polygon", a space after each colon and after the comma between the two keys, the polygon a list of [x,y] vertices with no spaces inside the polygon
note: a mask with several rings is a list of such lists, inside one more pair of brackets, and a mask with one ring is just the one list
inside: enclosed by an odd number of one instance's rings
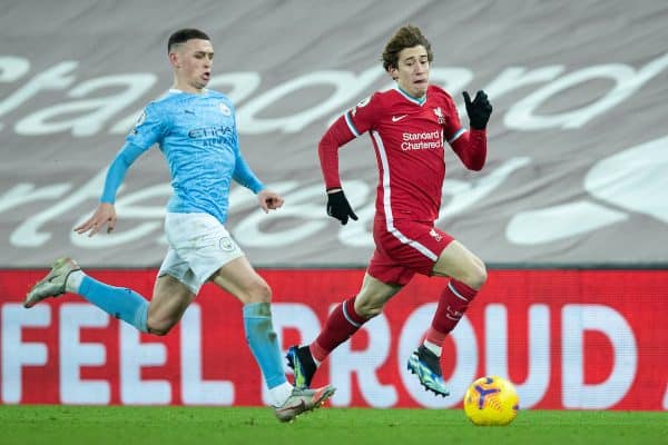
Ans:
{"label": "bare thigh and knee of the blue-kit player's front leg", "polygon": [[220,267],[212,277],[216,286],[237,297],[242,303],[269,303],[272,290],[243,256]]}

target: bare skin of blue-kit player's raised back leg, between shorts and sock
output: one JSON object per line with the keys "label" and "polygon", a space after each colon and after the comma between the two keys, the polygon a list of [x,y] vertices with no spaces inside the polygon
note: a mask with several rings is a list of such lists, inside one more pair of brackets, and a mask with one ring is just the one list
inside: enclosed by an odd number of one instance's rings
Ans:
{"label": "bare skin of blue-kit player's raised back leg, between shorts and sock", "polygon": [[[173,277],[161,275],[156,279],[154,296],[148,305],[149,326],[171,327],[184,315],[195,294],[188,286]],[[150,323],[153,322],[153,324]]]}

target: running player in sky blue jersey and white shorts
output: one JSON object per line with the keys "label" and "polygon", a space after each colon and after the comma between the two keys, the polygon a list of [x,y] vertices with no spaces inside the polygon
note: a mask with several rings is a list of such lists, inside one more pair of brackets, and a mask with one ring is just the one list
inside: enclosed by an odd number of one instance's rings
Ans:
{"label": "running player in sky blue jersey and white shorts", "polygon": [[170,36],[167,50],[174,85],[145,108],[109,166],[99,206],[75,228],[88,236],[114,230],[114,202],[128,168],[157,145],[167,160],[174,194],[165,217],[169,248],[153,298],[149,301],[129,288],[100,283],[63,257],[28,293],[24,307],[73,293],[143,333],[166,335],[202,285],[213,281],[243,303],[246,339],[269,389],[274,413],[288,422],[321,406],[334,388],[295,388],[287,382],[272,325],[272,290],[225,228],[233,179],[257,195],[265,212],[279,208],[283,198],[265,188],[244,160],[230,100],[206,88],[214,60],[209,37],[197,29],[181,29]]}

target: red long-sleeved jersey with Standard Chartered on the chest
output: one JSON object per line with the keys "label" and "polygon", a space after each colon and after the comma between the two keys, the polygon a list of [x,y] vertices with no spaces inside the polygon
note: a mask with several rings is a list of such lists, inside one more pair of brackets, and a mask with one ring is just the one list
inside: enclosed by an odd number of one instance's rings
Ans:
{"label": "red long-sleeved jersey with Standard Chartered on the chest", "polygon": [[482,168],[487,154],[484,130],[469,138],[442,88],[430,86],[422,101],[395,88],[362,100],[325,134],[318,150],[327,188],[340,186],[338,147],[364,132],[379,166],[376,218],[434,221],[445,177],[444,141],[472,169]]}

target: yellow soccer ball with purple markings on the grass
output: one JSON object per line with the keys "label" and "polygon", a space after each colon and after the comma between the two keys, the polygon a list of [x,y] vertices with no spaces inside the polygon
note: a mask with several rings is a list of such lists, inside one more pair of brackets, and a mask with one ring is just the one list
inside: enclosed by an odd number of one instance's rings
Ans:
{"label": "yellow soccer ball with purple markings on the grass", "polygon": [[518,415],[519,407],[514,386],[499,376],[479,378],[464,395],[464,412],[474,425],[508,425]]}

